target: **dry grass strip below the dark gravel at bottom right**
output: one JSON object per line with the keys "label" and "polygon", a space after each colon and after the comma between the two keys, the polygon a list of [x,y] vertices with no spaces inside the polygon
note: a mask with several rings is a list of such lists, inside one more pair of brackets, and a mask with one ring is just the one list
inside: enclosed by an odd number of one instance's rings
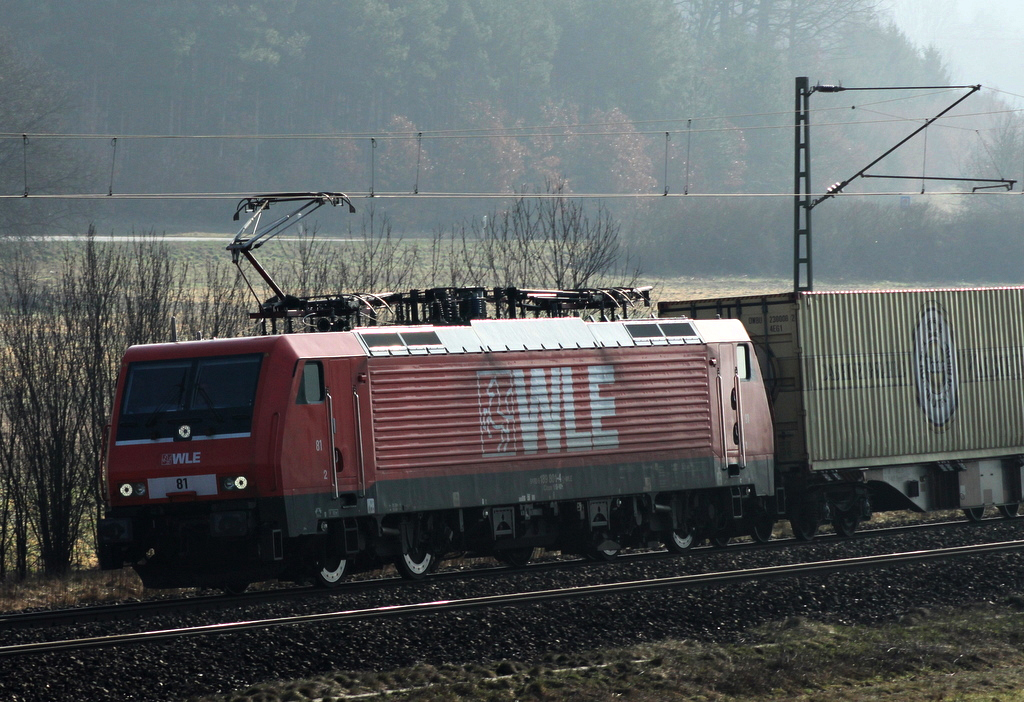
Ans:
{"label": "dry grass strip below the dark gravel at bottom right", "polygon": [[744,645],[663,642],[541,661],[335,671],[204,698],[278,700],[1024,700],[1021,602],[885,626],[794,618]]}

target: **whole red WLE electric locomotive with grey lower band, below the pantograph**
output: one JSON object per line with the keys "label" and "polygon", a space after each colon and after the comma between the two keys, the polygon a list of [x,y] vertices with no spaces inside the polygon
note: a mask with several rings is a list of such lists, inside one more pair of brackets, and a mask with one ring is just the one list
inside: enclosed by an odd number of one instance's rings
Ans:
{"label": "whole red WLE electric locomotive with grey lower band, below the pantograph", "polygon": [[773,432],[735,320],[365,327],[133,347],[102,568],[337,582],[445,554],[770,536]]}

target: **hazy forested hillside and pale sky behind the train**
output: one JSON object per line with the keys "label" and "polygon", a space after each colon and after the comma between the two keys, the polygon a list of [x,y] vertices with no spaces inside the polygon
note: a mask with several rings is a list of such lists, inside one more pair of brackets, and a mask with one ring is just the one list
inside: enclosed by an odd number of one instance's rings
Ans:
{"label": "hazy forested hillside and pale sky behind the train", "polygon": [[[1021,282],[1022,88],[996,71],[1018,62],[1015,4],[8,0],[0,233],[226,237],[239,196],[341,190],[358,212],[322,211],[322,233],[373,213],[422,237],[560,187],[606,209],[650,274],[786,278],[795,78],[981,83],[872,173],[1015,179],[1014,194],[855,180],[846,192],[889,194],[814,210],[815,280]],[[812,95],[815,192],[964,93]],[[36,198],[82,193],[99,198]]]}

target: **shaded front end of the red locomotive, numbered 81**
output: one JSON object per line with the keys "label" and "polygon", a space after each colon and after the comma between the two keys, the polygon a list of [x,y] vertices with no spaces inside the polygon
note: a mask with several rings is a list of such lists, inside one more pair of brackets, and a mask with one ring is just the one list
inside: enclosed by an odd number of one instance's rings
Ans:
{"label": "shaded front end of the red locomotive, numbered 81", "polygon": [[195,584],[193,569],[223,584],[221,564],[256,555],[254,437],[266,354],[202,348],[137,347],[122,366],[99,560],[102,568],[132,564],[146,586]]}

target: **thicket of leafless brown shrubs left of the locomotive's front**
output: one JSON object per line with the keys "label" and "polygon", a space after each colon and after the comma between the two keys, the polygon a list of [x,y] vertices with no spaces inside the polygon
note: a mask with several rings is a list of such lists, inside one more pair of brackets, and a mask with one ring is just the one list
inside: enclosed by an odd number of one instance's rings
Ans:
{"label": "thicket of leafless brown shrubs left of the locomotive's front", "polygon": [[90,227],[58,271],[39,270],[20,252],[5,262],[0,572],[13,562],[24,577],[38,557],[44,573],[61,575],[82,560],[102,501],[98,468],[124,349],[168,340],[176,311],[216,332],[238,327],[226,320],[238,287],[220,284],[225,266],[209,269],[195,293],[187,268],[168,254],[153,238],[100,246]]}

